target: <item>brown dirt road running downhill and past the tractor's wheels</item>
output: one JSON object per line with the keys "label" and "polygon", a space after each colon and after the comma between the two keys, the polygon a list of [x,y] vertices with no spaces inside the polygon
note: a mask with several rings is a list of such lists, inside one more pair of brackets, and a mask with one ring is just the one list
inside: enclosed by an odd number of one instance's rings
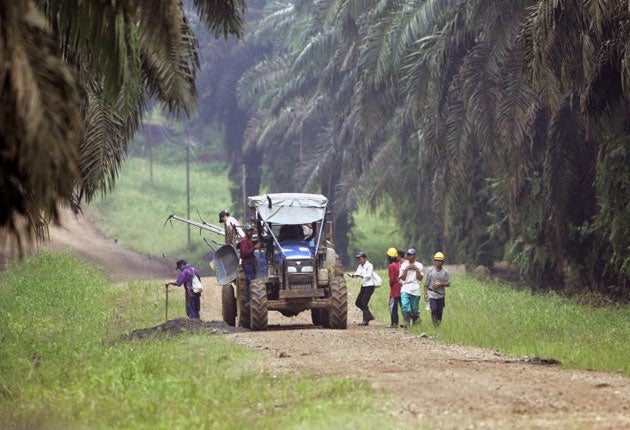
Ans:
{"label": "brown dirt road running downhill and past the tractor's wheels", "polygon": [[[54,249],[74,249],[104,267],[113,279],[173,276],[172,262],[149,259],[107,240],[90,218],[67,219],[51,232]],[[220,320],[219,288],[205,279],[202,319]],[[350,303],[353,298],[350,297]],[[422,338],[383,322],[359,327],[350,305],[347,330],[311,325],[310,314],[270,313],[267,332],[226,338],[265,352],[272,373],[309,372],[361,378],[390,393],[375,404],[398,423],[436,429],[629,429],[630,379],[518,362],[479,348]],[[629,357],[630,359],[630,357]]]}

